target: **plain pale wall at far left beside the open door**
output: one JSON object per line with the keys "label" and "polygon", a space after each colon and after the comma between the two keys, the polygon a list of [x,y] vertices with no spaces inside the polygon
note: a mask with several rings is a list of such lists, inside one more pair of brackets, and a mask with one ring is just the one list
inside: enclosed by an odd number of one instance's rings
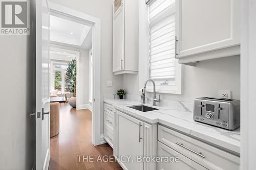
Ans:
{"label": "plain pale wall at far left beside the open door", "polygon": [[35,111],[35,30],[30,29],[30,36],[0,36],[0,169],[32,169],[35,161],[35,117],[29,116]]}

